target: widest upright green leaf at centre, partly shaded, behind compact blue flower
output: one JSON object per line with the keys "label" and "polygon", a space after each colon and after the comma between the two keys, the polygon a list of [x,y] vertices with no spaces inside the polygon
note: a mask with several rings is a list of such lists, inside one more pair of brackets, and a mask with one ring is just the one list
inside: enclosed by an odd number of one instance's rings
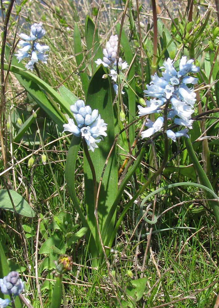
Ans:
{"label": "widest upright green leaf at centre, partly shaded, behind compact blue flower", "polygon": [[[103,119],[104,122],[107,123],[107,137],[103,137],[103,141],[98,143],[99,148],[95,149],[94,153],[89,151],[96,172],[97,184],[99,184],[99,180],[103,172],[103,167],[105,165],[108,153],[110,152],[112,144],[115,140],[111,82],[109,78],[103,79],[102,78],[103,74],[105,74],[105,71],[103,69],[103,66],[100,66],[93,75],[93,77],[91,78],[86,97],[86,103],[91,106],[92,110],[98,109],[101,119]],[[116,198],[117,176],[118,176],[117,158],[116,158],[116,150],[114,147],[103,175],[103,180],[99,193],[98,217],[99,217],[100,231],[103,228],[103,224],[106,220],[107,214],[109,213],[112,204]],[[85,154],[84,154],[84,182],[85,182],[85,198],[87,206],[87,221],[95,237],[96,221],[94,217],[95,205],[94,205],[93,178]],[[114,227],[115,211],[112,216],[112,219],[109,221],[108,224],[109,233],[112,232]],[[105,244],[107,245],[107,243]]]}

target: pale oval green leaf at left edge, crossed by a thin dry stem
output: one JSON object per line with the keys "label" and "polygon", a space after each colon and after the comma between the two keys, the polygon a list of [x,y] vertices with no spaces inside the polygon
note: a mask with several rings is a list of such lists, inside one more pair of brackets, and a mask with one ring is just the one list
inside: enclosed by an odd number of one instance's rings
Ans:
{"label": "pale oval green leaf at left edge, crossed by a thin dry stem", "polygon": [[[35,212],[29,206],[27,201],[15,190],[10,189],[9,191],[17,213],[26,217],[35,217]],[[0,190],[0,208],[14,212],[11,199],[6,189]]]}

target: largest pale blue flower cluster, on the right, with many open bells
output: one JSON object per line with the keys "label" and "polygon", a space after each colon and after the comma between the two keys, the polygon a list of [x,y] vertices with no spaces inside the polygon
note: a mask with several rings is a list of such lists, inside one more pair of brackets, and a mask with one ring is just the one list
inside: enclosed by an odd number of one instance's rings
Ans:
{"label": "largest pale blue flower cluster, on the right, with many open bells", "polygon": [[[168,58],[164,61],[160,69],[165,69],[162,72],[162,77],[158,77],[157,73],[151,76],[150,85],[146,85],[147,90],[144,90],[145,96],[153,97],[150,101],[146,101],[146,107],[138,106],[138,114],[149,115],[152,113],[162,114],[164,106],[168,104],[167,118],[173,120],[174,123],[180,126],[185,126],[184,129],[173,132],[167,130],[167,137],[174,142],[177,137],[187,137],[187,132],[192,128],[191,119],[194,112],[194,104],[196,102],[196,94],[193,91],[193,85],[198,81],[193,77],[193,73],[199,72],[200,68],[193,64],[194,60],[183,56],[179,62],[179,71],[177,72],[173,64],[173,60]],[[170,105],[170,106],[169,106]],[[161,130],[163,125],[163,117],[158,117],[155,122],[147,120],[145,126],[149,127],[141,133],[143,138],[152,136],[155,132]]]}

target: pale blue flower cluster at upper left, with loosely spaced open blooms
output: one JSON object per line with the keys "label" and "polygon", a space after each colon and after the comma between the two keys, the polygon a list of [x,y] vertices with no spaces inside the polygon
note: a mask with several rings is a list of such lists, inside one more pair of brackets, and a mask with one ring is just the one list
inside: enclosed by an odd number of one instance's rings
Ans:
{"label": "pale blue flower cluster at upper left, with loosely spaced open blooms", "polygon": [[34,63],[37,63],[39,60],[47,64],[48,54],[45,54],[45,52],[49,50],[49,46],[40,45],[38,42],[36,42],[37,39],[40,39],[44,35],[45,30],[42,28],[41,23],[35,23],[31,26],[29,36],[24,33],[19,34],[19,37],[22,39],[19,41],[19,46],[22,48],[18,50],[18,53],[15,54],[15,56],[19,62],[25,58],[31,58],[25,66],[31,71],[34,68]]}

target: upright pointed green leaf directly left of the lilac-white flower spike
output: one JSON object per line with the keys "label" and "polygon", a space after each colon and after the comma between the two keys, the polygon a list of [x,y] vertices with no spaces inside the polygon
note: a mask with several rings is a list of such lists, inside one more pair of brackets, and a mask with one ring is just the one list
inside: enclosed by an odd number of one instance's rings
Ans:
{"label": "upright pointed green leaf directly left of the lilac-white flower spike", "polygon": [[[99,44],[97,29],[95,31],[95,24],[89,16],[86,16],[85,20],[85,37],[86,37],[87,50],[89,50],[89,58],[93,59],[92,60],[93,72],[96,72],[97,67],[94,61],[96,61],[98,58],[103,59],[103,52]],[[94,38],[94,43],[93,43],[93,38]]]}

